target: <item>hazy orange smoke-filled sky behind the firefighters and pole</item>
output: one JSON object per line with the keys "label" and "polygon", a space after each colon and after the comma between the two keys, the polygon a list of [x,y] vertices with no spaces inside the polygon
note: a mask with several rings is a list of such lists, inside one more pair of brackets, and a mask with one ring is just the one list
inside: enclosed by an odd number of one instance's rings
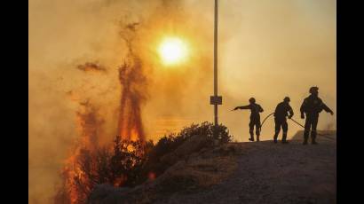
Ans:
{"label": "hazy orange smoke-filled sky behind the firefighters and pole", "polygon": [[[212,0],[30,0],[29,203],[51,203],[62,162],[79,131],[75,113],[89,101],[98,110],[100,142],[117,134],[120,82],[117,67],[127,47],[120,22],[138,22],[134,51],[143,61],[145,100],[141,104],[146,139],[158,139],[192,122],[213,122]],[[219,122],[234,139],[248,141],[249,111],[231,112],[255,97],[265,115],[285,96],[299,122],[299,106],[309,87],[336,114],[336,1],[220,0]],[[188,43],[189,58],[166,67],[158,58],[164,37]],[[96,63],[102,72],[80,65]],[[336,116],[322,113],[318,129]],[[289,137],[297,129],[289,122]],[[272,139],[273,120],[261,139]]]}

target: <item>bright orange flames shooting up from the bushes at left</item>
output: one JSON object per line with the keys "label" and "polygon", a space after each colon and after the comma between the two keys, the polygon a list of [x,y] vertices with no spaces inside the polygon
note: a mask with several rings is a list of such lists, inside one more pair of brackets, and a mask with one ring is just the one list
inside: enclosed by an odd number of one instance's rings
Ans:
{"label": "bright orange flames shooting up from the bushes at left", "polygon": [[[144,141],[145,134],[141,120],[141,103],[145,100],[143,89],[139,89],[140,83],[144,79],[140,77],[141,64],[135,63],[124,64],[119,68],[120,83],[122,85],[122,97],[120,104],[120,113],[118,120],[118,129],[123,140]],[[81,97],[73,92],[68,93],[68,97],[73,101],[80,101]],[[79,133],[75,149],[67,158],[62,169],[64,196],[71,204],[84,203],[93,187],[90,176],[87,177],[80,165],[80,160],[84,159],[83,151],[88,151],[92,156],[99,147],[99,127],[102,122],[98,119],[98,109],[92,106],[90,100],[86,99],[79,102],[79,109],[75,113],[76,128]],[[130,145],[128,151],[133,152],[135,149]],[[91,165],[95,165],[91,163]],[[91,172],[98,167],[90,167]],[[126,176],[115,178],[113,184],[122,186],[127,181]],[[84,186],[84,189],[80,189]],[[60,201],[59,201],[60,202]],[[57,201],[56,201],[57,203]]]}

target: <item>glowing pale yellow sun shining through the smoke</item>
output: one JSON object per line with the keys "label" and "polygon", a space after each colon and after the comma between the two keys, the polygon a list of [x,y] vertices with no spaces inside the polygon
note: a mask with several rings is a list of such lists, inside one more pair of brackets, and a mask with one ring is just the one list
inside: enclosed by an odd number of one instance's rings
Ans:
{"label": "glowing pale yellow sun shining through the smoke", "polygon": [[159,45],[158,53],[164,65],[176,65],[186,60],[187,45],[178,37],[167,37]]}

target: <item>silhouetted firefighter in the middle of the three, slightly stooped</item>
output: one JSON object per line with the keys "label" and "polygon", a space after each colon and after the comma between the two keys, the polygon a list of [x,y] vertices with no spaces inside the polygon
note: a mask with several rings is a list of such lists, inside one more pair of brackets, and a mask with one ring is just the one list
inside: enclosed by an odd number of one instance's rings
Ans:
{"label": "silhouetted firefighter in the middle of the three, slightly stooped", "polygon": [[281,142],[283,144],[289,143],[287,141],[287,131],[289,130],[289,124],[287,123],[287,116],[289,119],[293,116],[292,107],[289,106],[289,97],[283,99],[283,102],[279,103],[274,111],[274,123],[275,123],[275,133],[274,133],[274,143],[277,143],[278,134],[280,134],[281,129],[283,129],[283,135],[281,137]]}

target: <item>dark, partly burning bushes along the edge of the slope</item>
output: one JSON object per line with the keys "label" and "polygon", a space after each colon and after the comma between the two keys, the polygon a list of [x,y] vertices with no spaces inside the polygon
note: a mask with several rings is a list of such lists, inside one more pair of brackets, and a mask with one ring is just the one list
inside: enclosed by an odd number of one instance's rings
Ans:
{"label": "dark, partly burning bushes along the edge of the slope", "polygon": [[[96,151],[83,149],[75,162],[82,175],[73,177],[72,188],[78,197],[76,203],[87,200],[96,184],[112,184],[115,187],[133,187],[142,184],[148,178],[161,175],[170,167],[170,163],[161,161],[168,153],[175,151],[190,137],[196,135],[206,137],[207,144],[225,144],[231,141],[227,128],[218,126],[217,136],[213,135],[214,125],[210,122],[192,124],[182,129],[178,134],[162,137],[155,145],[153,141],[126,141],[115,137],[112,148],[99,148]],[[153,177],[151,177],[153,176]],[[70,193],[67,186],[59,190],[56,203],[68,203]]]}

